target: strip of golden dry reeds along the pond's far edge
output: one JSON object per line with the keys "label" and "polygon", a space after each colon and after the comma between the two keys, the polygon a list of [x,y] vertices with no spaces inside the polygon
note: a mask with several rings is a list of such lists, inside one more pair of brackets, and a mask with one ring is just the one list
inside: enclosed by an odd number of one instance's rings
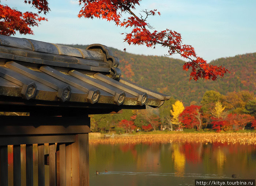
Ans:
{"label": "strip of golden dry reeds along the pond's far edge", "polygon": [[138,143],[227,143],[256,145],[256,133],[173,133],[140,134],[134,136],[90,138],[89,144],[138,144]]}

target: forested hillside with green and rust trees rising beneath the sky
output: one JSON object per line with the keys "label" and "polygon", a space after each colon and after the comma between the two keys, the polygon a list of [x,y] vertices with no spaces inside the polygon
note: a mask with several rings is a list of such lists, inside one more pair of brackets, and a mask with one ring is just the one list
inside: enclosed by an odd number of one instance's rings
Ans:
{"label": "forested hillside with green and rust trees rising beneath the sky", "polygon": [[[84,45],[69,45],[86,48]],[[189,81],[189,72],[182,70],[184,61],[161,56],[144,56],[122,52],[111,48],[120,59],[122,76],[153,90],[172,95],[185,105],[200,105],[204,92],[215,90],[226,92],[249,90],[256,94],[256,53],[219,58],[210,63],[223,65],[230,74],[217,81]]]}

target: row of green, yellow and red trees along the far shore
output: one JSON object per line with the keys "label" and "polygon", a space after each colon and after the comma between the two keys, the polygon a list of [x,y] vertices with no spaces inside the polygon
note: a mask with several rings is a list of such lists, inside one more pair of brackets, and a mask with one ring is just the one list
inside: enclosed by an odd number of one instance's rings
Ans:
{"label": "row of green, yellow and red trees along the far shore", "polygon": [[[193,103],[193,102],[192,102]],[[256,129],[256,98],[252,92],[206,91],[200,105],[184,107],[171,98],[159,109],[123,110],[123,114],[91,116],[93,132],[131,133],[155,130],[227,130]]]}

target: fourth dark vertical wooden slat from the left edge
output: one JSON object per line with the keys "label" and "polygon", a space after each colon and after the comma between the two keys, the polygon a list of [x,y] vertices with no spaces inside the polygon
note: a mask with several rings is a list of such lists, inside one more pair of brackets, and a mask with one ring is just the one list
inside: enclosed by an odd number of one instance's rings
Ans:
{"label": "fourth dark vertical wooden slat from the left edge", "polygon": [[44,144],[38,144],[38,185],[45,185],[45,155]]}

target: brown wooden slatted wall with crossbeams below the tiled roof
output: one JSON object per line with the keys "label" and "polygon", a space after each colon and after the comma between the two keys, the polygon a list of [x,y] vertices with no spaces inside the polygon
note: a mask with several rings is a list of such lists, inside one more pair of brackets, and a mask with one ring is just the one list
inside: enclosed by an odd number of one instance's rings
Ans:
{"label": "brown wooden slatted wall with crossbeams below the tiled roof", "polygon": [[1,116],[0,121],[0,186],[89,186],[90,118]]}

